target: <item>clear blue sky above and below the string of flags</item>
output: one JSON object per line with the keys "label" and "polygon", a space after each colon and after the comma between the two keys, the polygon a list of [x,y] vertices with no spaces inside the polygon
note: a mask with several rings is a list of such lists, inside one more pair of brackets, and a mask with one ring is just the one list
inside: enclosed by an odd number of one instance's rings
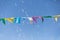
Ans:
{"label": "clear blue sky above and below the string of flags", "polygon": [[[0,0],[0,18],[60,14],[60,0]],[[59,19],[60,20],[60,19]],[[44,19],[30,24],[0,22],[0,40],[60,40],[60,21]]]}

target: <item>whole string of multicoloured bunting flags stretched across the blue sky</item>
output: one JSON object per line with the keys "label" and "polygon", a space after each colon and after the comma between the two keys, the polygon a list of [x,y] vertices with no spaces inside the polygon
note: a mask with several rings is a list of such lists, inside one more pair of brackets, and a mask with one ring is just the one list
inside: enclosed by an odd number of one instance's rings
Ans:
{"label": "whole string of multicoloured bunting flags stretched across the blue sky", "polygon": [[6,24],[6,21],[10,23],[21,23],[21,19],[28,19],[30,23],[37,23],[37,19],[42,20],[44,22],[44,18],[54,18],[54,20],[57,22],[58,18],[60,18],[60,15],[55,15],[55,16],[33,16],[33,17],[11,17],[11,18],[0,18],[0,22],[3,24]]}

